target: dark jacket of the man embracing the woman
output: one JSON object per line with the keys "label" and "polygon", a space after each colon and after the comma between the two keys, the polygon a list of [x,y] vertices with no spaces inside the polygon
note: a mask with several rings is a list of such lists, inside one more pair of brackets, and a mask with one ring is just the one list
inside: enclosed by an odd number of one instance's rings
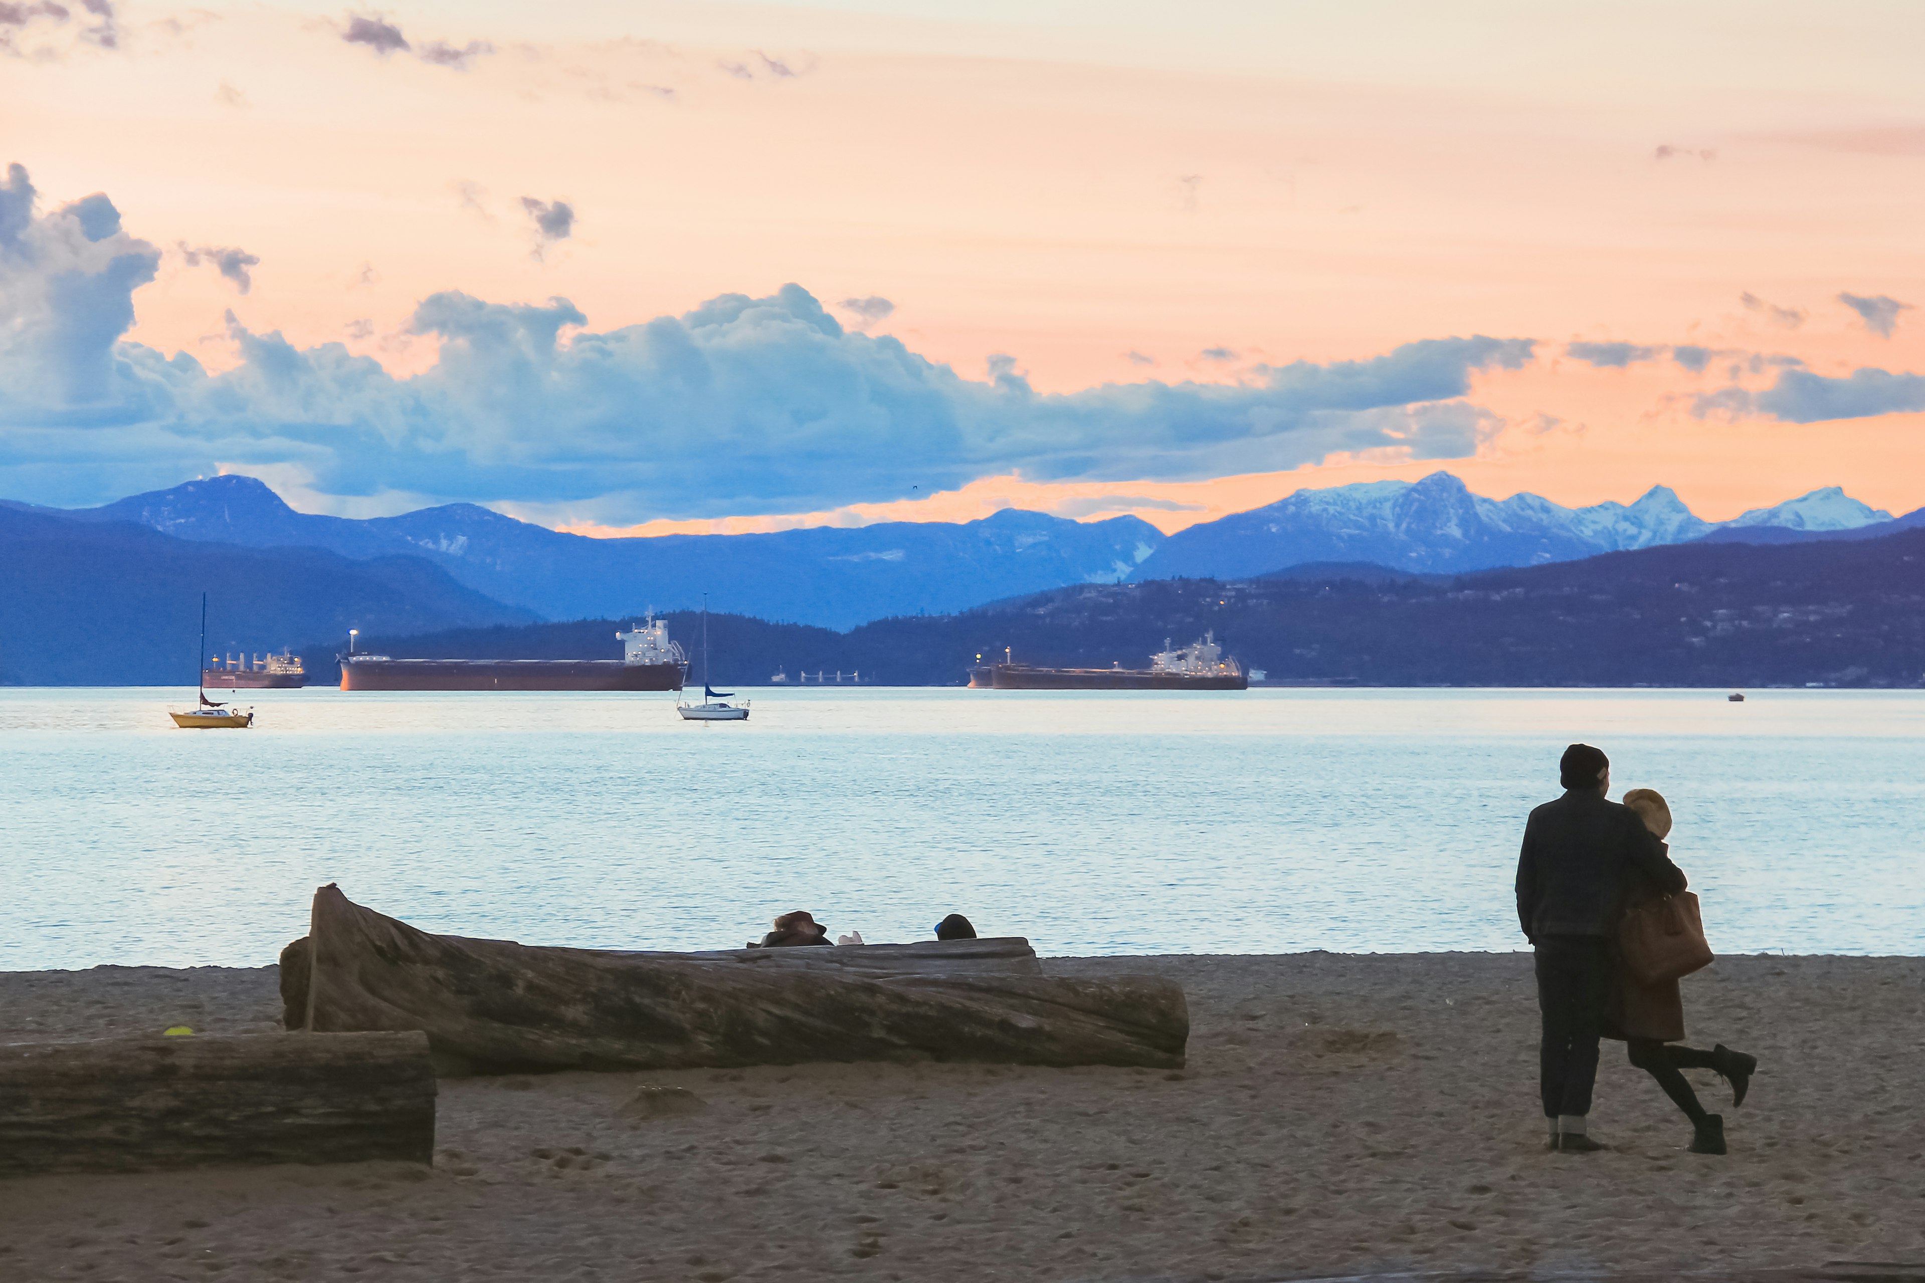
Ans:
{"label": "dark jacket of the man embracing the woman", "polygon": [[1571,789],[1530,812],[1517,856],[1517,921],[1540,935],[1611,935],[1636,873],[1684,891],[1684,871],[1638,812],[1596,789]]}

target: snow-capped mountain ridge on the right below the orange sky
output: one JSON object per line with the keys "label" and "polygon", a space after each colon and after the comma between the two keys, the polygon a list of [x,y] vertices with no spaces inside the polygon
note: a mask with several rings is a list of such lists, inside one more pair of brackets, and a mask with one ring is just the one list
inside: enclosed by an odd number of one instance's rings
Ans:
{"label": "snow-capped mountain ridge on the right below the orange sky", "polygon": [[1238,579],[1305,562],[1455,573],[1677,544],[1723,527],[1840,531],[1888,519],[1888,512],[1848,498],[1838,487],[1711,523],[1661,485],[1634,504],[1565,508],[1538,494],[1505,500],[1471,494],[1463,481],[1438,471],[1415,483],[1297,491],[1265,508],[1192,525],[1167,539],[1132,579]]}

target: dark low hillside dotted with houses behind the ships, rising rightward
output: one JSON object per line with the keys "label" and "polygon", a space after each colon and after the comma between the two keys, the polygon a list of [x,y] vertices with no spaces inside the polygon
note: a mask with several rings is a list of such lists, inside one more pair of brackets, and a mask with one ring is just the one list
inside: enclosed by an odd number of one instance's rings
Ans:
{"label": "dark low hillside dotted with houses behind the ships, rising rightward", "polygon": [[[1436,577],[1374,566],[1245,581],[1076,585],[959,616],[849,633],[712,616],[718,683],[807,669],[889,685],[961,685],[978,654],[1142,666],[1217,633],[1274,679],[1463,687],[1925,685],[1925,529],[1877,539],[1659,544]],[[397,656],[562,658],[606,644],[614,619],[377,637]],[[687,637],[695,619],[672,616]],[[310,656],[331,673],[331,654]],[[982,692],[984,700],[1011,698]],[[1742,712],[1736,716],[1744,716]]]}

